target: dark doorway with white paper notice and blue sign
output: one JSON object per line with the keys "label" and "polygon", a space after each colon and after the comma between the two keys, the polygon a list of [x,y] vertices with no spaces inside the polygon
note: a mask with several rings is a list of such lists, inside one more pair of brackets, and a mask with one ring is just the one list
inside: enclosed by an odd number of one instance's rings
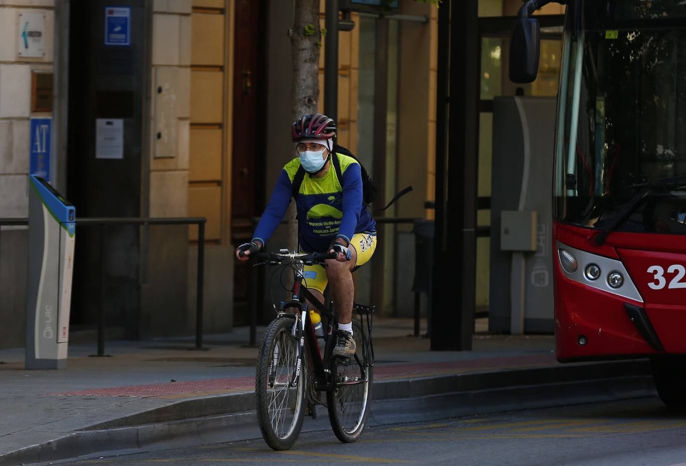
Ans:
{"label": "dark doorway with white paper notice and blue sign", "polygon": [[[149,27],[143,0],[71,0],[69,8],[69,121],[67,197],[78,217],[139,217],[145,32]],[[130,44],[106,45],[108,8],[130,8]],[[97,122],[114,121],[121,154],[106,158],[97,149]],[[139,334],[139,229],[79,227],[74,265],[71,324],[74,330],[97,321],[101,286],[107,322],[118,336]],[[104,283],[100,274],[103,271]],[[110,332],[110,335],[112,332]]]}

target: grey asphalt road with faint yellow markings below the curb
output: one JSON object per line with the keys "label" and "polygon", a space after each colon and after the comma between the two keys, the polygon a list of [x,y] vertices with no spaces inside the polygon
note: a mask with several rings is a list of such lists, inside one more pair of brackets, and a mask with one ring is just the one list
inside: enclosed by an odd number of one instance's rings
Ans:
{"label": "grey asphalt road with faint yellow markings below the curb", "polygon": [[686,413],[648,398],[379,426],[346,445],[332,432],[309,432],[287,452],[259,439],[60,464],[226,463],[686,466]]}

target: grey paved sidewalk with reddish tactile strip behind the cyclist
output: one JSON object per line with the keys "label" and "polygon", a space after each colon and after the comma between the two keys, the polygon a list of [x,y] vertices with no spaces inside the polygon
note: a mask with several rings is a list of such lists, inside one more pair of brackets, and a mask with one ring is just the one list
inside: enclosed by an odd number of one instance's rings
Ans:
{"label": "grey paved sidewalk with reddish tactile strip behind the cyclist", "polygon": [[[430,352],[429,340],[411,332],[410,319],[375,320],[375,387],[383,381],[559,366],[552,336],[477,335],[472,352]],[[62,371],[27,371],[23,349],[0,350],[0,464],[5,454],[70,432],[158,422],[162,418],[145,421],[145,413],[183,400],[252,392],[257,349],[244,346],[247,341],[247,328],[206,336],[208,351],[189,351],[191,338],[112,341],[106,344],[108,358],[88,357],[95,345],[71,345]],[[247,397],[240,400],[242,410],[252,409]],[[213,414],[167,413],[164,419]]]}

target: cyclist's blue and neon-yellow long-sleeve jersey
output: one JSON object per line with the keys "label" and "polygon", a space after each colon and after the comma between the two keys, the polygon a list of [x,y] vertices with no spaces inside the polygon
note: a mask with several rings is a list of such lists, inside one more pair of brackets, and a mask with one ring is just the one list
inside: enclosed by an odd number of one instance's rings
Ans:
{"label": "cyclist's blue and neon-yellow long-sleeve jersey", "polygon": [[[307,252],[324,252],[337,237],[349,243],[355,233],[376,231],[376,223],[362,201],[359,163],[342,154],[335,156],[340,162],[342,186],[331,164],[322,177],[306,174],[296,197],[300,247]],[[299,167],[300,159],[291,160],[276,181],[272,197],[253,235],[263,244],[267,243],[286,213],[293,178]]]}

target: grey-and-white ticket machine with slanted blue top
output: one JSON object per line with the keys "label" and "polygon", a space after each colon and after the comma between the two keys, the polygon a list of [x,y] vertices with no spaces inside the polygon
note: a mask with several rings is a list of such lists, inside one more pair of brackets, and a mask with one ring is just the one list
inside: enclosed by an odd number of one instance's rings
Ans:
{"label": "grey-and-white ticket machine with slanted blue top", "polygon": [[29,175],[26,369],[67,366],[75,220],[67,199]]}

